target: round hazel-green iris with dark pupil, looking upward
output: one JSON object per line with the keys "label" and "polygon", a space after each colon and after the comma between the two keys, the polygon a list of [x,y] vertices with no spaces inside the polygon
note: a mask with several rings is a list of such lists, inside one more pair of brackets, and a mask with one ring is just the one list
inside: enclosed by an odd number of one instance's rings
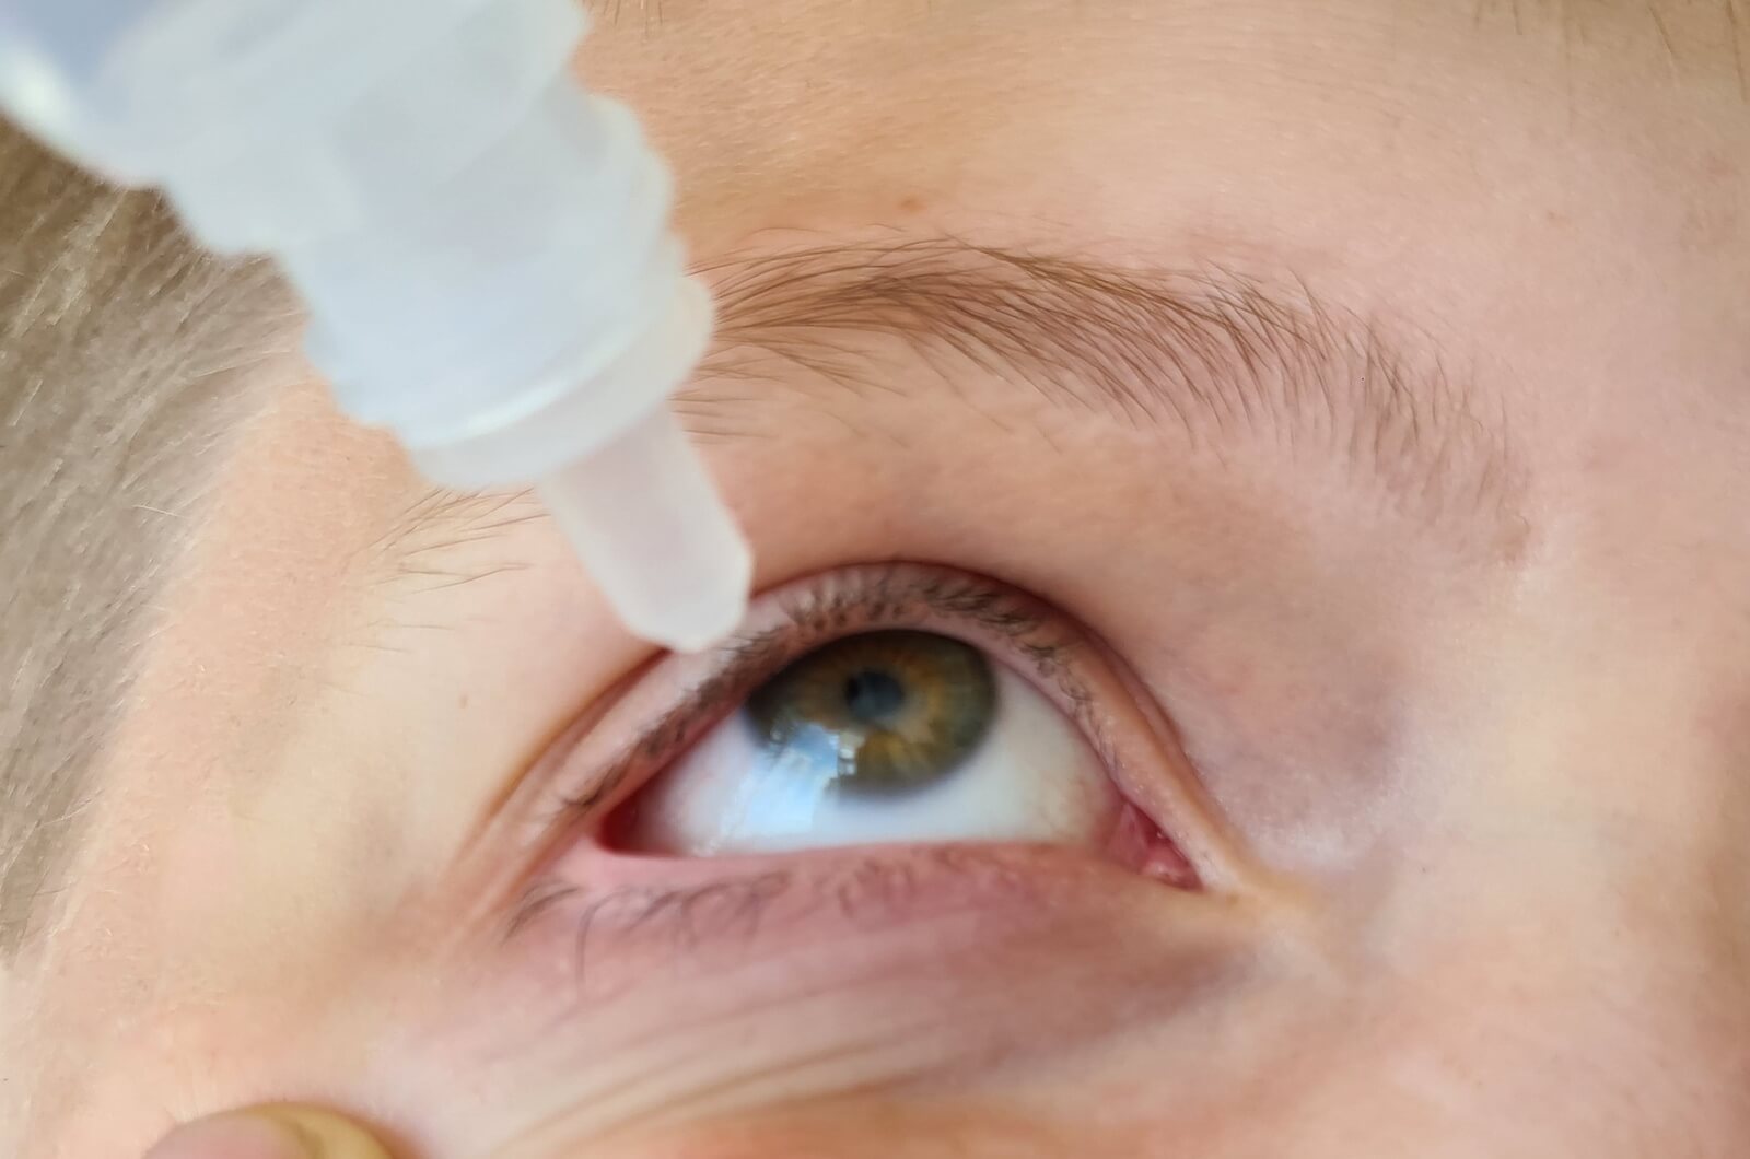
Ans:
{"label": "round hazel-green iris with dark pupil, looking upward", "polygon": [[971,756],[996,720],[996,679],[957,639],[864,632],[768,679],[747,714],[774,751],[836,762],[836,791],[892,795],[942,781]]}

